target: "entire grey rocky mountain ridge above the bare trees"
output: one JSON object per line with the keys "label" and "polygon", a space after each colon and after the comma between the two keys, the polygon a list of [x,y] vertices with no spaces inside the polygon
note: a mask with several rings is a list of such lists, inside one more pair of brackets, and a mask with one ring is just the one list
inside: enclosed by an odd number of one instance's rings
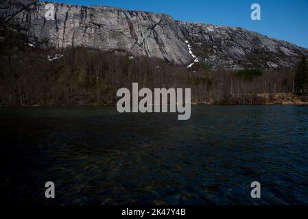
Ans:
{"label": "entire grey rocky mountain ridge above the bare trees", "polygon": [[222,68],[287,68],[308,50],[240,27],[175,21],[166,14],[106,6],[54,5],[4,0],[1,23],[11,23],[36,47],[93,47],[128,55],[147,55],[174,64],[200,62]]}

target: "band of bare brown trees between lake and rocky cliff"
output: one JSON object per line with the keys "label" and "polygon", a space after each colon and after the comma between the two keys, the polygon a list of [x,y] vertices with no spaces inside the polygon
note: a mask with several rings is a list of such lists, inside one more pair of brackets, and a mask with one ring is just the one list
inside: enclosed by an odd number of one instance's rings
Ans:
{"label": "band of bare brown trees between lake and rocky cliff", "polygon": [[[2,33],[3,34],[3,33]],[[296,70],[192,68],[82,47],[37,49],[7,31],[0,40],[0,105],[114,105],[119,88],[191,88],[194,103],[258,103],[256,94],[308,88],[305,57]],[[61,54],[61,55],[56,55]]]}

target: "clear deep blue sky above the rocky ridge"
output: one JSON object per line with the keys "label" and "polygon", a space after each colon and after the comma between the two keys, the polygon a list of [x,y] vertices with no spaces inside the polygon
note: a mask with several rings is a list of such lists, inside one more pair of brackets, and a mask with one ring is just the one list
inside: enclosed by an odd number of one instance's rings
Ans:
{"label": "clear deep blue sky above the rocky ridge", "polygon": [[[52,1],[52,0],[51,0]],[[169,14],[176,20],[244,27],[308,48],[308,0],[54,0],[77,5],[108,5]],[[261,5],[261,21],[250,5]]]}

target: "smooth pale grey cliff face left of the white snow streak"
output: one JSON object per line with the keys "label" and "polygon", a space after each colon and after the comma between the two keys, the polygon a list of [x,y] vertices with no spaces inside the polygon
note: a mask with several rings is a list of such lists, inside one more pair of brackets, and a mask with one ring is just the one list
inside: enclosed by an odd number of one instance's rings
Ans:
{"label": "smooth pale grey cliff face left of the white snow streak", "polygon": [[178,23],[166,14],[53,3],[55,20],[48,21],[46,4],[36,3],[15,18],[34,44],[126,51],[184,65],[192,60]]}

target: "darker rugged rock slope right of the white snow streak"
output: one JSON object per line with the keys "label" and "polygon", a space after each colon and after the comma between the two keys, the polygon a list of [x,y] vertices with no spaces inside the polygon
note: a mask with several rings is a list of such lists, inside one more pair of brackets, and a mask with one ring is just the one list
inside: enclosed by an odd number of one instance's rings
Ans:
{"label": "darker rugged rock slope right of the white snow streak", "polygon": [[178,22],[193,53],[209,66],[224,68],[293,67],[307,49],[241,27]]}

